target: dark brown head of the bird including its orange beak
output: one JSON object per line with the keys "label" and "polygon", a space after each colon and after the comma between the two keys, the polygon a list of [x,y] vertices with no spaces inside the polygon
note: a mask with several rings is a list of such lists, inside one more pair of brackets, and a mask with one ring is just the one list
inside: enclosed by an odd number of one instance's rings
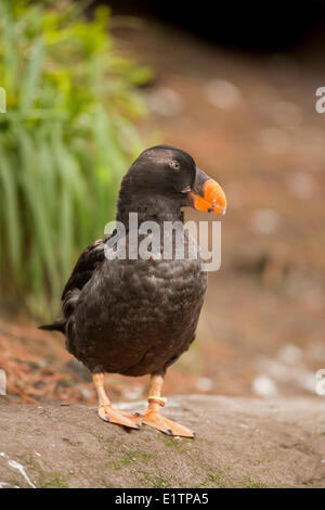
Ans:
{"label": "dark brown head of the bird including its orange beak", "polygon": [[[145,209],[151,216],[154,208],[161,213],[180,212],[184,206],[224,214],[226,201],[220,184],[200,170],[186,152],[169,145],[146,149],[122,180],[118,212]],[[157,211],[155,215],[162,216]]]}

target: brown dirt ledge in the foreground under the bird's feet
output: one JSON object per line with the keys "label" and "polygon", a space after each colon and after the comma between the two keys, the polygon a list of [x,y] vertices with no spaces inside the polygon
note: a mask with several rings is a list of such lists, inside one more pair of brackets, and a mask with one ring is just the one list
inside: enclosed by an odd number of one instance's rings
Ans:
{"label": "brown dirt ledge in the foreground under the bird's feet", "polygon": [[0,410],[3,487],[325,486],[324,405],[315,399],[171,398],[165,413],[196,430],[195,439],[127,432],[81,405],[2,397]]}

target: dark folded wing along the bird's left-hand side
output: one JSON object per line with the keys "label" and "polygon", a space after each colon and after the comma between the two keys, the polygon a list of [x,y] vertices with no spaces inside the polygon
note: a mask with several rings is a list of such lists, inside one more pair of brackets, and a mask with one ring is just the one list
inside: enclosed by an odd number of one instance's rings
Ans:
{"label": "dark folded wing along the bird's left-hand side", "polygon": [[112,234],[108,234],[102,239],[98,239],[91,243],[87,248],[81,253],[80,257],[77,260],[77,264],[70,275],[70,278],[65,284],[65,288],[62,293],[62,301],[65,301],[67,294],[75,289],[81,290],[83,285],[91,279],[93,271],[105,258],[105,243],[110,238]]}

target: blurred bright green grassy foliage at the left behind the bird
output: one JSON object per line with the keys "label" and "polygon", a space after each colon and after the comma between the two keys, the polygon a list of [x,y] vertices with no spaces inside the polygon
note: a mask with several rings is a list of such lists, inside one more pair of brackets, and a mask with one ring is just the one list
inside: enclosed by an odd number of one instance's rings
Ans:
{"label": "blurred bright green grassy foliage at the left behind the bird", "polygon": [[113,219],[143,149],[136,90],[150,69],[121,56],[109,10],[0,0],[0,283],[5,301],[57,311],[64,280]]}

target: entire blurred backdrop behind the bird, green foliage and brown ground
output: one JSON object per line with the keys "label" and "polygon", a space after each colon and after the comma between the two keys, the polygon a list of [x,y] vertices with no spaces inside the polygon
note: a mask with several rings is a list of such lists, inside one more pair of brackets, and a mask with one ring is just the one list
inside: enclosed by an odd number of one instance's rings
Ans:
{"label": "entire blurred backdrop behind the bird, green foliage and brown ground", "polygon": [[[11,399],[95,401],[63,337],[36,324],[58,314],[122,175],[156,143],[190,152],[227,196],[222,266],[166,394],[321,398],[324,28],[314,0],[0,1],[0,368]],[[123,400],[147,385],[107,382]]]}

